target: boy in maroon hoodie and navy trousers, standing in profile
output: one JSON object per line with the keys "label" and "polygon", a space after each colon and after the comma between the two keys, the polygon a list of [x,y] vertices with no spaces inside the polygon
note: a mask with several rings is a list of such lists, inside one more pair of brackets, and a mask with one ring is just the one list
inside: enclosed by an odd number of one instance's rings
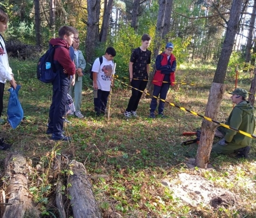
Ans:
{"label": "boy in maroon hoodie and navy trousers, standing in profile", "polygon": [[[74,33],[74,28],[63,26],[59,29],[59,38],[52,38],[49,42],[52,46],[60,46],[55,48],[53,57],[57,77],[52,82],[53,96],[49,111],[48,129],[46,131],[47,134],[52,133],[51,139],[53,140],[71,140],[70,137],[63,135],[62,132],[66,113],[68,76],[73,76],[76,73],[76,66],[69,55],[69,47],[73,43]],[[75,83],[75,77],[73,78],[72,85]]]}

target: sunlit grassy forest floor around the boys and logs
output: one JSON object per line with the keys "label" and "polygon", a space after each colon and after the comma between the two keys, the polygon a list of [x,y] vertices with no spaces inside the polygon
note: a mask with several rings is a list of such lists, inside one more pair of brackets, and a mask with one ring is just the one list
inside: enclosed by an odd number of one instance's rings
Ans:
{"label": "sunlit grassy forest floor around the boys and logs", "polygon": [[[65,125],[65,131],[73,141],[70,144],[55,143],[45,134],[52,87],[35,78],[36,63],[11,60],[10,65],[15,79],[22,85],[19,98],[25,118],[17,129],[11,129],[9,124],[1,127],[1,136],[13,146],[10,151],[2,151],[0,158],[4,160],[9,152],[20,152],[30,160],[33,170],[29,174],[29,189],[45,217],[54,217],[52,214],[58,217],[52,201],[57,180],[52,161],[59,154],[85,165],[104,217],[256,216],[254,146],[249,160],[236,160],[232,155],[212,155],[210,162],[214,170],[211,172],[189,170],[185,162],[189,157],[195,157],[197,145],[181,146],[182,141],[194,138],[182,136],[182,132],[199,129],[201,118],[166,104],[164,113],[167,119],[149,119],[150,99],[143,95],[137,111],[139,118],[127,120],[123,112],[131,90],[121,89],[118,81],[111,96],[110,121],[106,117],[95,117],[92,86],[87,76],[84,77],[86,86],[81,108],[86,118],[69,116],[72,124]],[[181,66],[177,71],[177,82],[197,85],[177,85],[169,90],[166,100],[204,115],[213,76],[214,65]],[[249,90],[246,75],[240,77],[238,86]],[[233,89],[234,82],[234,77],[228,74],[227,90]],[[8,97],[6,86],[5,106]],[[225,94],[223,98],[218,121],[225,120],[232,110],[229,97]],[[199,174],[213,181],[216,187],[234,192],[239,196],[239,204],[233,208],[213,209],[182,203],[161,185],[162,180],[177,178],[182,172]],[[59,177],[64,178],[68,173],[68,170],[63,170]],[[67,183],[65,186],[63,195],[68,199]],[[70,208],[69,205],[71,216]]]}

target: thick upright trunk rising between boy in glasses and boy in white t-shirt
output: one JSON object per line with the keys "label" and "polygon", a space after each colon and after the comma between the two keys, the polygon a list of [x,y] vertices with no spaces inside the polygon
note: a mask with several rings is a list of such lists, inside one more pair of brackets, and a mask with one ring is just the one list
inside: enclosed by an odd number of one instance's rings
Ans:
{"label": "thick upright trunk rising between boy in glasses and boy in white t-shirt", "polygon": [[85,60],[92,63],[96,45],[99,43],[100,0],[87,0],[87,33],[85,41]]}

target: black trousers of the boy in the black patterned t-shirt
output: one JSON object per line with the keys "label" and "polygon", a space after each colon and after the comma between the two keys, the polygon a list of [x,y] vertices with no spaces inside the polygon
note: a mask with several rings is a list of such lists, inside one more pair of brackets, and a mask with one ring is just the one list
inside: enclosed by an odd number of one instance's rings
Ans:
{"label": "black trousers of the boy in the black patterned t-shirt", "polygon": [[[141,91],[144,91],[147,87],[148,81],[143,81],[143,80],[132,80],[131,81],[131,86],[134,88],[137,88]],[[140,98],[142,96],[142,92],[138,91],[136,89],[132,89],[132,96],[129,100],[128,106],[126,108],[126,111],[131,112],[131,111],[136,111],[140,102]]]}

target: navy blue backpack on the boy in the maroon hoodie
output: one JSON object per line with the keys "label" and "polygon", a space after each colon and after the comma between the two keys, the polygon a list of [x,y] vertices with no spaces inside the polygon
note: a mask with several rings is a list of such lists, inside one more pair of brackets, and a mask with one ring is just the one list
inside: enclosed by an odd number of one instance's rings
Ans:
{"label": "navy blue backpack on the boy in the maroon hoodie", "polygon": [[53,56],[55,48],[60,47],[60,45],[52,46],[49,44],[49,49],[45,54],[43,54],[37,63],[37,79],[44,83],[51,83],[57,76],[55,72],[55,64],[53,63]]}

